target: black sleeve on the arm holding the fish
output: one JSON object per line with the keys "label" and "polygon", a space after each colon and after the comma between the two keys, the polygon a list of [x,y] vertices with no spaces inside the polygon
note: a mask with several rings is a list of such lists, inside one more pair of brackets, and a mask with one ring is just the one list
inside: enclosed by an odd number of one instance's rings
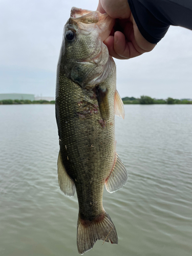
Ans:
{"label": "black sleeve on the arm holding the fish", "polygon": [[170,25],[192,30],[192,0],[128,0],[142,36],[157,44]]}

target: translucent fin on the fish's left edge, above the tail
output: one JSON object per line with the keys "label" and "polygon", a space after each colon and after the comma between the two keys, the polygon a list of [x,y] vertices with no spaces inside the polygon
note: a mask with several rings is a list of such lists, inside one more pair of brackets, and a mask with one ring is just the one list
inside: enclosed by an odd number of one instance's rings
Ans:
{"label": "translucent fin on the fish's left edge, above the tail", "polygon": [[58,173],[58,183],[61,191],[63,191],[63,193],[68,197],[74,197],[75,183],[69,177],[65,167],[63,166],[60,151],[59,151],[58,161],[57,161],[57,173]]}

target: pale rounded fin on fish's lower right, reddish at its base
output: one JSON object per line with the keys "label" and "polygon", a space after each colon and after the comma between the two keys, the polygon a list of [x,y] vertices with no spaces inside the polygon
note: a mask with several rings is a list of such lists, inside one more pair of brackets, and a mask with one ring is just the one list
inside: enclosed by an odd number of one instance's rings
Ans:
{"label": "pale rounded fin on fish's lower right, reddish at its base", "polygon": [[126,184],[128,178],[127,171],[118,154],[116,155],[113,170],[105,182],[105,188],[109,193],[117,191]]}

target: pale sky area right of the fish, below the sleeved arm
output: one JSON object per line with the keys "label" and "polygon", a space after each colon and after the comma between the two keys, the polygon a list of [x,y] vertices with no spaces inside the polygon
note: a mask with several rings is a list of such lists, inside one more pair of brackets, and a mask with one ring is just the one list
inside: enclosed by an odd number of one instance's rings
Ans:
{"label": "pale sky area right of the fish, below the sleeved arm", "polygon": [[170,27],[150,53],[116,60],[117,88],[121,96],[156,98],[192,97],[192,31]]}

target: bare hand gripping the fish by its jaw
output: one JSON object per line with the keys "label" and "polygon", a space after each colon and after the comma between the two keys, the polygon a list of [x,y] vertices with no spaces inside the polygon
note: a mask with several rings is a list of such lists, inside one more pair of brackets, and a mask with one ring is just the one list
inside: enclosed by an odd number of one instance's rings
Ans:
{"label": "bare hand gripping the fish by its jaw", "polygon": [[116,19],[117,28],[104,40],[112,57],[129,59],[150,52],[156,46],[139,32],[127,0],[99,0],[97,11]]}

